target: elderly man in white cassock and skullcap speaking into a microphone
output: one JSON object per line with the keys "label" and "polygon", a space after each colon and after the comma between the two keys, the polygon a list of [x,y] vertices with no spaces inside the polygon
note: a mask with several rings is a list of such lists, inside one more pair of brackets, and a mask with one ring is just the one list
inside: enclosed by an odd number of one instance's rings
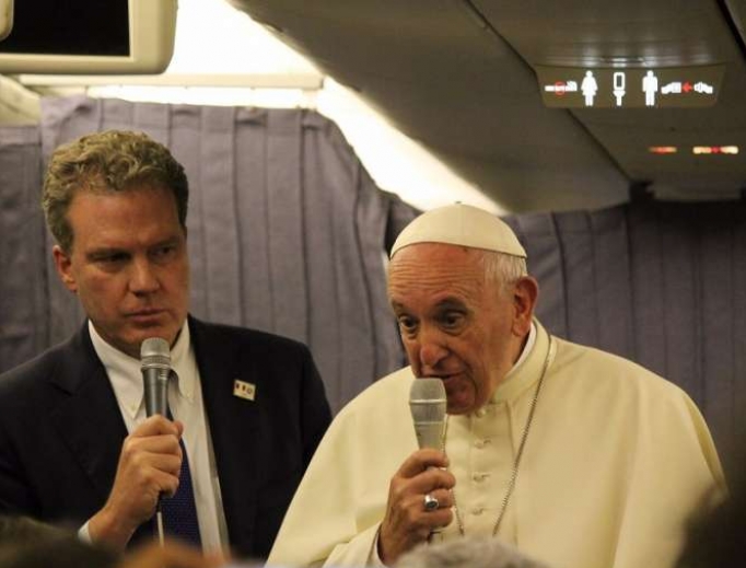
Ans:
{"label": "elderly man in white cassock and skullcap speaking into a microphone", "polygon": [[[388,295],[410,367],[336,417],[269,564],[394,565],[467,535],[557,568],[675,563],[690,514],[725,491],[707,425],[673,383],[548,333],[525,257],[505,223],[466,205],[401,232]],[[420,378],[445,386],[441,449],[418,449]]]}

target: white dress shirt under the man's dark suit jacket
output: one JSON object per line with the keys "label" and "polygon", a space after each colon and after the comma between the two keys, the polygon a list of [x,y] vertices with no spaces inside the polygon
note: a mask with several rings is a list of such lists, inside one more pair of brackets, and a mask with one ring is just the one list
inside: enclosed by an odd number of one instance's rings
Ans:
{"label": "white dress shirt under the man's dark suit jacket", "polygon": [[[140,361],[107,344],[89,321],[93,348],[112,382],[127,431],[132,432],[145,419],[144,387]],[[209,426],[202,404],[202,389],[189,326],[184,322],[171,349],[171,367],[178,375],[168,383],[168,406],[174,419],[184,424],[184,444],[189,457],[189,473],[195,491],[202,548],[228,550],[228,528],[220,494],[220,482],[212,452]],[[90,541],[88,523],[80,535]]]}

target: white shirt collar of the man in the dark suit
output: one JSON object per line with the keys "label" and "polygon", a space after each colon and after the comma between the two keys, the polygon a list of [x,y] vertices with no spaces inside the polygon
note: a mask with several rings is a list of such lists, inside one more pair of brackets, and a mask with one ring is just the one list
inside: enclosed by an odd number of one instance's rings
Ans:
{"label": "white shirt collar of the man in the dark suit", "polygon": [[[117,398],[123,407],[135,417],[142,406],[144,397],[140,360],[106,343],[90,320],[89,333],[93,348],[106,369],[106,374],[112,381]],[[194,373],[187,372],[190,343],[189,325],[185,321],[176,343],[171,348],[171,367],[178,375],[178,393],[189,402],[194,397],[196,380]]]}

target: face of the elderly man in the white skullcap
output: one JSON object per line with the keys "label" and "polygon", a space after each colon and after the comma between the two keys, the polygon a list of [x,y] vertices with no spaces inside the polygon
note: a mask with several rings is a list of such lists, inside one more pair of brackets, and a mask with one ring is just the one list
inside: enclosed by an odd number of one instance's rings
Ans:
{"label": "face of the elderly man in the white skullcap", "polygon": [[388,295],[409,362],[416,376],[443,381],[448,414],[489,401],[531,326],[535,295],[525,297],[523,283],[505,292],[486,281],[480,254],[421,243],[398,251],[389,266]]}

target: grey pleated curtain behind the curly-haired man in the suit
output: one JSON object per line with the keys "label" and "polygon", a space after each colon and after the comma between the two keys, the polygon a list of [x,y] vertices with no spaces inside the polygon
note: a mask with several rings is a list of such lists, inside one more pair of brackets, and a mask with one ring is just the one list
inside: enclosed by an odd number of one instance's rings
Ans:
{"label": "grey pleated curtain behind the curly-haired man in the suit", "polygon": [[[168,146],[187,171],[191,313],[307,344],[335,410],[376,376],[403,364],[387,308],[383,258],[391,235],[417,210],[375,186],[331,121],[299,109],[47,98],[40,125],[43,157],[85,132],[109,128],[148,132]],[[38,139],[34,129],[27,135]],[[0,348],[13,351],[12,337],[33,343],[33,325],[48,333],[22,356],[3,357],[3,369],[63,340],[83,321],[74,297],[54,274],[51,243],[38,236],[44,235],[37,212],[38,143],[30,142],[27,151],[27,169],[35,177],[22,181],[18,167],[3,169],[12,183],[3,182],[2,198],[9,188],[33,196],[22,216],[36,222],[38,251],[24,248],[28,239],[21,234],[14,248],[0,245],[0,254],[27,256],[23,277],[2,279],[13,288],[3,294],[9,303],[3,314],[8,310],[12,317],[3,316]],[[20,160],[16,154],[10,160]],[[8,194],[8,199],[13,196]],[[8,215],[19,217],[16,210]],[[4,234],[4,220],[2,228]],[[45,269],[28,264],[39,259]],[[50,277],[42,281],[38,274]],[[24,281],[34,278],[39,283],[34,298],[42,308],[35,318],[31,308],[15,313],[19,300],[32,304]],[[16,321],[21,326],[12,327]]]}

